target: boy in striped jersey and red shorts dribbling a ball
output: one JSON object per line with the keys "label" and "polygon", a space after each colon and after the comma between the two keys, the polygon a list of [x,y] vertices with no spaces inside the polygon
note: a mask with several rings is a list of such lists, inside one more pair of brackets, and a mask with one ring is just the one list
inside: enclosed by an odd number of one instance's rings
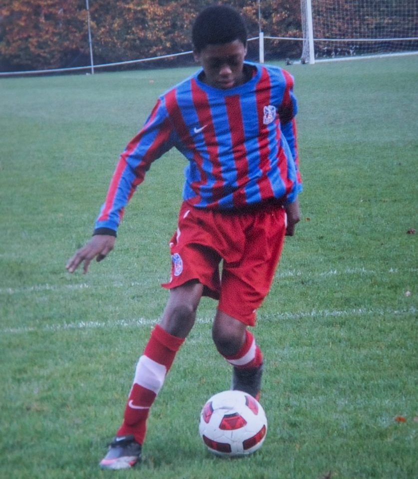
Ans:
{"label": "boy in striped jersey and red shorts dribbling a ball", "polygon": [[245,61],[246,26],[229,6],[204,9],[192,41],[201,69],[158,98],[121,154],[92,238],[66,265],[72,273],[83,263],[87,272],[93,258],[102,260],[151,162],[173,147],[186,157],[171,278],[163,284],[168,302],[137,363],[104,469],[140,461],[149,410],[203,295],[218,301],[212,337],[232,365],[231,388],[258,397],[263,355],[248,327],[270,289],[285,234],[293,235],[300,219],[292,76]]}

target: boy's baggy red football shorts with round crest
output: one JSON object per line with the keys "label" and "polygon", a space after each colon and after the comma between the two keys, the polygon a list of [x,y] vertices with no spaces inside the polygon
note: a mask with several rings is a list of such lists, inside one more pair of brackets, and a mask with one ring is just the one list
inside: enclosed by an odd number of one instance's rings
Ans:
{"label": "boy's baggy red football shorts with round crest", "polygon": [[219,299],[219,310],[254,326],[273,281],[285,223],[285,210],[278,205],[230,213],[183,203],[170,241],[171,278],[162,286],[171,289],[197,279],[205,296]]}

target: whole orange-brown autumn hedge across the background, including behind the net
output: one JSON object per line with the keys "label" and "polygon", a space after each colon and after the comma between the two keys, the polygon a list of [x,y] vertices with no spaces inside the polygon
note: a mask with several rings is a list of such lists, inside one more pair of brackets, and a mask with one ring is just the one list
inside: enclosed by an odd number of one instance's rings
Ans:
{"label": "whole orange-brown autumn hedge across the background, including behind the net", "polygon": [[[224,0],[225,1],[225,0]],[[113,63],[189,51],[197,13],[211,0],[89,0],[94,63]],[[250,37],[301,38],[300,0],[228,0],[243,14]],[[259,24],[258,5],[261,5]],[[312,0],[316,38],[416,36],[411,2]],[[337,14],[338,11],[338,14]],[[391,44],[387,42],[390,49]],[[394,46],[396,48],[398,44]],[[257,58],[257,42],[249,57]],[[338,46],[338,45],[337,45]],[[318,56],[338,53],[336,44],[316,42]],[[410,49],[418,42],[409,41]],[[372,43],[344,44],[341,50],[366,53]],[[301,57],[300,40],[269,40],[266,59]],[[252,50],[251,50],[252,49]],[[331,53],[330,53],[331,51]],[[340,52],[341,53],[341,52]],[[187,57],[182,61],[192,61]],[[89,65],[86,0],[2,0],[0,71]]]}

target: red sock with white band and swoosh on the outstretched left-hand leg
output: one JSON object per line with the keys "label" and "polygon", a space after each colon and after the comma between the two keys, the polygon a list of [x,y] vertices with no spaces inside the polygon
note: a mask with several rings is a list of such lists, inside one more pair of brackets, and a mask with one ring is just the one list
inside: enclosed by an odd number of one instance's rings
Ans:
{"label": "red sock with white band and swoosh on the outstretched left-hand leg", "polygon": [[183,338],[167,333],[158,324],[151,331],[144,353],[136,366],[123,424],[117,431],[117,436],[132,434],[136,442],[143,444],[149,409],[183,342]]}

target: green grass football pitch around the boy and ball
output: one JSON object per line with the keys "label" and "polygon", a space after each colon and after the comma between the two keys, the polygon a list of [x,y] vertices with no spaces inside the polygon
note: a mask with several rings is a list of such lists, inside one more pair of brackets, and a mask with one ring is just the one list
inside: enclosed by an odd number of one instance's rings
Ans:
{"label": "green grass football pitch around the boy and ball", "polygon": [[[254,331],[266,441],[233,461],[200,441],[200,408],[230,380],[204,299],[153,406],[144,464],[115,476],[417,477],[418,59],[289,68],[305,189]],[[181,156],[152,166],[105,261],[87,276],[64,265],[156,96],[192,71],[0,81],[1,477],[110,476],[97,463],[167,298]]]}

